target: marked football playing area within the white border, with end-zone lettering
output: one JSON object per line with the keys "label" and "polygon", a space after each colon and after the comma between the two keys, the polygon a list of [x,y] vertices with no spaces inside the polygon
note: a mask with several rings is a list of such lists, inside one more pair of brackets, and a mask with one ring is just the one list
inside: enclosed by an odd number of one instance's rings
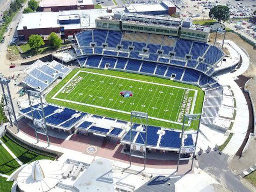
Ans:
{"label": "marked football playing area within the white border, with end-zone lettering", "polygon": [[[52,102],[69,103],[77,110],[84,106],[126,116],[131,111],[142,111],[147,112],[150,119],[180,125],[184,114],[195,113],[199,91],[190,85],[179,87],[86,70],[77,70],[66,80],[52,94]],[[131,95],[120,94],[125,91]]]}

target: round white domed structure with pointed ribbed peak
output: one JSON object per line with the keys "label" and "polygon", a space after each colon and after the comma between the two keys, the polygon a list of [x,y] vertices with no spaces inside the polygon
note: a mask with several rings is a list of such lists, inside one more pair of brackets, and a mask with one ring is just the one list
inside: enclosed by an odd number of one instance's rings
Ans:
{"label": "round white domed structure with pointed ribbed peak", "polygon": [[54,188],[61,179],[61,165],[43,159],[26,165],[19,173],[17,185],[20,191],[46,192]]}

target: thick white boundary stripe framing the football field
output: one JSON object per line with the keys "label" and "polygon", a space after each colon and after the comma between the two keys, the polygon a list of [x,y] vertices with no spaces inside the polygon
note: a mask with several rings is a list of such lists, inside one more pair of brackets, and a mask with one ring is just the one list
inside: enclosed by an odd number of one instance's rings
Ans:
{"label": "thick white boundary stripe framing the football field", "polygon": [[[184,88],[184,87],[178,87],[178,86],[173,86],[173,85],[166,85],[166,84],[160,84],[160,83],[153,83],[153,82],[148,82],[148,81],[141,81],[141,80],[136,80],[136,79],[129,79],[129,78],[125,78],[125,77],[119,77],[119,76],[111,76],[111,75],[106,75],[106,74],[100,74],[100,73],[94,73],[94,72],[89,72],[89,71],[82,71],[79,70],[76,72],[76,74],[68,80],[68,82],[58,91],[56,92],[53,96],[52,99],[54,100],[59,100],[59,101],[65,101],[65,102],[70,102],[70,103],[75,103],[75,104],[79,104],[79,105],[85,105],[88,107],[95,107],[95,108],[100,108],[100,109],[105,109],[105,110],[110,110],[110,111],[115,111],[115,112],[121,112],[121,113],[125,113],[125,114],[131,114],[127,111],[121,111],[121,110],[117,110],[117,109],[112,109],[112,108],[106,108],[106,107],[101,107],[101,106],[97,106],[97,105],[91,105],[91,104],[86,104],[86,103],[81,103],[81,102],[77,102],[77,101],[71,101],[71,100],[65,100],[65,99],[59,99],[56,98],[56,96],[80,73],[90,73],[90,74],[95,74],[95,75],[101,75],[101,76],[108,76],[108,77],[114,77],[114,78],[118,78],[118,79],[126,79],[126,80],[131,80],[131,81],[136,81],[136,82],[142,82],[142,83],[148,83],[148,84],[155,84],[155,85],[161,85],[161,86],[166,86],[166,87],[174,87],[174,88],[179,88],[179,89],[184,89],[184,90],[191,90],[191,91],[195,91],[194,94],[194,98],[193,98],[193,104],[192,104],[192,108],[191,108],[191,113],[194,112],[194,107],[195,107],[195,101],[196,101],[196,96],[197,96],[197,92],[198,90],[196,89],[190,89],[190,88]],[[169,121],[169,120],[165,120],[165,119],[160,119],[160,118],[156,118],[156,117],[151,117],[148,116],[148,118],[150,119],[155,119],[155,120],[159,120],[159,121],[164,121],[167,123],[174,123],[174,124],[180,124],[182,125],[182,123],[178,123],[176,121]],[[188,124],[186,124],[188,125]]]}

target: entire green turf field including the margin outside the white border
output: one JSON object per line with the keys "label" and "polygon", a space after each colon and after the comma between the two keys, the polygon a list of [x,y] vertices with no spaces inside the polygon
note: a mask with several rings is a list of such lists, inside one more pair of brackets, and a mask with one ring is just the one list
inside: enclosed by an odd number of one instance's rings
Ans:
{"label": "entire green turf field including the margin outside the white border", "polygon": [[[119,93],[131,91],[132,97]],[[147,112],[149,124],[180,128],[185,113],[201,113],[203,91],[192,85],[152,76],[110,70],[76,69],[46,100],[68,108],[129,120],[130,112]]]}

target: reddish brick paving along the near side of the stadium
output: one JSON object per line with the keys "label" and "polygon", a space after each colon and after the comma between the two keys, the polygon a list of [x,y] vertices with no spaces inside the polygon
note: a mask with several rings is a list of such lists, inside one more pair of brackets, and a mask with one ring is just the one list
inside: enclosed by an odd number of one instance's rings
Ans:
{"label": "reddish brick paving along the near side of the stadium", "polygon": [[[34,130],[28,126],[23,120],[18,122],[20,131],[35,138]],[[40,141],[46,143],[46,136],[37,134]],[[59,146],[62,148],[68,148],[71,150],[79,151],[84,154],[86,153],[86,148],[89,146],[96,146],[98,148],[97,152],[94,154],[88,154],[91,156],[100,156],[108,159],[112,159],[119,162],[129,163],[129,156],[121,153],[122,145],[115,140],[110,140],[106,142],[104,137],[97,135],[80,135],[74,134],[69,140],[63,140],[49,136],[50,144]],[[144,159],[138,157],[132,157],[132,164],[138,166],[144,166]],[[176,160],[154,160],[147,159],[146,166],[150,168],[158,169],[176,169]],[[191,161],[180,161],[179,174],[183,174],[189,170],[191,166]]]}

